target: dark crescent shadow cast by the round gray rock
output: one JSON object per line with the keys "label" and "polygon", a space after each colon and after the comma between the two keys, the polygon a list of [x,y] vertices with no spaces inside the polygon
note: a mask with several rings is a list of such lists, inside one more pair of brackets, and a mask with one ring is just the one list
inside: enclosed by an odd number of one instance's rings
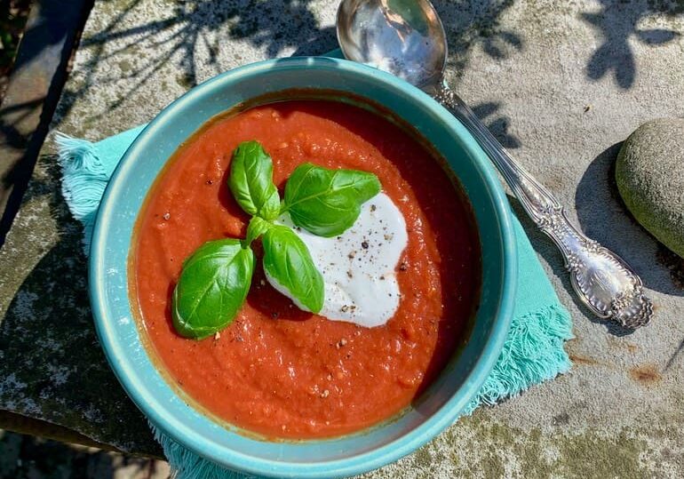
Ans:
{"label": "dark crescent shadow cast by the round gray rock", "polygon": [[[681,274],[671,255],[632,218],[617,191],[615,163],[622,143],[597,156],[577,185],[577,219],[585,234],[619,254],[647,288],[684,296],[674,279]],[[668,262],[669,261],[669,262]]]}

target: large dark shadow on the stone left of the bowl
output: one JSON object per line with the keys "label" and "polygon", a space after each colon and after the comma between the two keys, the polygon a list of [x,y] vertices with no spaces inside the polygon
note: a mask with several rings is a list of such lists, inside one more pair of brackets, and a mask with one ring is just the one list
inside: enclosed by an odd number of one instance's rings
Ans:
{"label": "large dark shadow on the stone left of the bowl", "polygon": [[[161,456],[147,421],[109,369],[92,322],[81,225],[60,195],[56,158],[41,159],[24,201],[47,196],[60,240],[28,274],[0,324],[0,403],[122,451]],[[31,241],[27,238],[26,241]]]}

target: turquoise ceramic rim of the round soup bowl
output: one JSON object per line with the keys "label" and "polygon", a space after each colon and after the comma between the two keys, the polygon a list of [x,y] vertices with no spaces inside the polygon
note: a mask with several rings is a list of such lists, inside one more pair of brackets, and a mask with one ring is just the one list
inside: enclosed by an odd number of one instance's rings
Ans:
{"label": "turquoise ceramic rim of the round soup bowl", "polygon": [[[218,443],[214,443],[191,427],[187,427],[177,418],[173,418],[170,415],[163,415],[162,411],[157,411],[155,405],[158,405],[161,401],[156,398],[155,402],[150,402],[148,400],[149,398],[142,395],[136,385],[136,381],[140,382],[142,378],[136,379],[131,377],[130,371],[133,371],[132,368],[125,366],[125,362],[130,358],[125,357],[126,355],[123,354],[123,349],[117,344],[118,340],[115,338],[116,333],[112,327],[115,320],[107,311],[107,294],[102,287],[103,282],[100,281],[101,278],[106,275],[102,261],[102,258],[106,254],[104,251],[105,242],[103,239],[107,237],[107,229],[110,228],[110,220],[108,217],[115,206],[115,204],[113,204],[113,198],[119,183],[118,180],[123,176],[126,169],[131,167],[131,158],[135,156],[136,149],[139,148],[139,145],[142,143],[141,139],[152,134],[151,132],[155,131],[155,127],[163,124],[167,117],[182,112],[184,106],[187,103],[192,102],[196,97],[207,94],[213,90],[220,90],[223,84],[229,83],[237,77],[256,76],[261,73],[266,73],[267,71],[273,71],[277,68],[325,68],[336,71],[341,69],[353,75],[372,77],[374,81],[388,84],[403,94],[418,100],[424,108],[431,110],[431,113],[434,116],[437,116],[441,122],[448,124],[449,128],[455,130],[456,135],[463,142],[463,147],[473,158],[477,170],[481,173],[482,180],[489,188],[489,194],[492,198],[494,212],[497,216],[497,222],[500,225],[503,240],[503,277],[497,315],[493,321],[494,325],[491,333],[485,339],[485,345],[481,349],[480,355],[474,361],[472,370],[465,379],[465,382],[468,383],[470,387],[461,387],[458,389],[457,392],[452,395],[438,411],[433,413],[432,416],[428,417],[408,434],[402,435],[393,442],[385,443],[377,449],[366,451],[350,458],[333,459],[315,463],[285,462],[275,459],[262,459],[243,454],[242,452],[231,450]],[[177,100],[172,101],[171,104],[166,108],[163,108],[163,110],[147,124],[143,131],[139,133],[136,140],[134,140],[131,143],[131,146],[126,150],[107,183],[107,188],[105,189],[99,204],[99,210],[92,231],[88,273],[89,293],[96,331],[100,345],[107,357],[107,362],[115,372],[115,376],[122,384],[123,389],[131,397],[133,403],[135,403],[139,410],[147,416],[147,419],[154,427],[162,431],[163,434],[171,437],[176,443],[183,445],[190,451],[195,452],[195,454],[205,459],[209,459],[211,462],[222,467],[228,467],[253,475],[330,478],[362,474],[363,472],[394,462],[430,441],[435,435],[441,433],[443,429],[449,427],[449,425],[457,419],[458,415],[463,411],[466,404],[473,399],[475,394],[472,392],[467,393],[466,389],[468,391],[477,391],[481,388],[485,379],[489,376],[489,372],[497,362],[498,355],[504,346],[513,317],[513,301],[517,290],[517,266],[517,251],[512,213],[501,183],[497,178],[497,173],[490,164],[489,158],[481,150],[476,140],[474,140],[472,134],[468,132],[454,116],[451,116],[445,108],[425,92],[422,92],[396,76],[392,76],[376,68],[370,68],[349,60],[333,59],[330,57],[292,57],[288,59],[258,61],[243,67],[228,70],[219,76],[214,76],[203,84],[195,86]],[[147,350],[145,351],[145,355],[147,355]],[[148,355],[147,359],[149,360]]]}

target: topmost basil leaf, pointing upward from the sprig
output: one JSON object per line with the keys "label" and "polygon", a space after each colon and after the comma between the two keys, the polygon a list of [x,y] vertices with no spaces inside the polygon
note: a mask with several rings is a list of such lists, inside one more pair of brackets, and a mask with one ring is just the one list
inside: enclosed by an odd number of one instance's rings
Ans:
{"label": "topmost basil leaf, pointing upward from the sprig", "polygon": [[273,161],[258,141],[244,141],[233,153],[228,187],[245,212],[274,220],[280,196],[273,183]]}

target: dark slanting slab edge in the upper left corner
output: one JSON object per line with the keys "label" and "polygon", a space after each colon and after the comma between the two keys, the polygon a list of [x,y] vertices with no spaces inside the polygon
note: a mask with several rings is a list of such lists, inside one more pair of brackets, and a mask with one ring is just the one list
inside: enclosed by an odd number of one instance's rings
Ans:
{"label": "dark slanting slab edge in the upper left corner", "polygon": [[19,211],[94,0],[36,0],[0,108],[0,246]]}

